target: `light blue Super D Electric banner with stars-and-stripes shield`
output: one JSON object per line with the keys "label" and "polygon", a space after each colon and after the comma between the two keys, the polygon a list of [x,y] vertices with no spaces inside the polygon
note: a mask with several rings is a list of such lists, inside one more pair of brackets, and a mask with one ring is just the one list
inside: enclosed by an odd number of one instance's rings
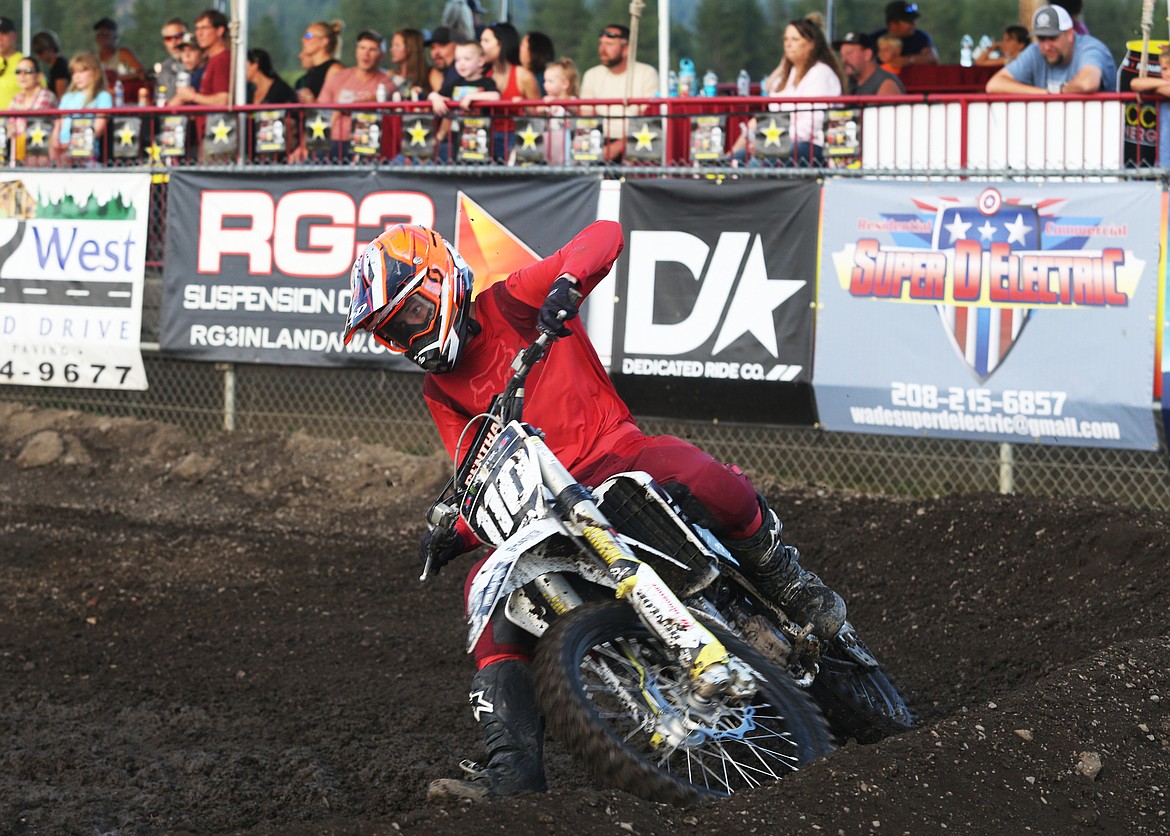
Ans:
{"label": "light blue Super D Electric banner with stars-and-stripes shield", "polygon": [[821,423],[1156,449],[1163,222],[1150,184],[828,184]]}

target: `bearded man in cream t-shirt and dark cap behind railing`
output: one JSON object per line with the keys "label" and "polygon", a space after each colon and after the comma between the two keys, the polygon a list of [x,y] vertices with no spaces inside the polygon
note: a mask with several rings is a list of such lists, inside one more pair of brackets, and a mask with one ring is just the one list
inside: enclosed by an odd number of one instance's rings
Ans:
{"label": "bearded man in cream t-shirt and dark cap behind railing", "polygon": [[[625,98],[626,72],[629,71],[629,29],[621,23],[610,23],[598,36],[598,67],[591,67],[581,78],[581,98]],[[658,94],[658,70],[641,61],[633,67],[629,96],[649,98]],[[591,109],[605,119],[605,150],[608,163],[620,163],[626,152],[626,117],[641,112],[638,105],[597,105]]]}

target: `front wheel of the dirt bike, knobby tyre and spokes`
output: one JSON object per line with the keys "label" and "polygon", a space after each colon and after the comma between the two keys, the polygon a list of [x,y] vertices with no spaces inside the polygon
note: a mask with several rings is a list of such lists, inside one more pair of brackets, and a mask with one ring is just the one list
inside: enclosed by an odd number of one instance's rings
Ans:
{"label": "front wheel of the dirt bike, knobby tyre and spokes", "polygon": [[753,697],[697,698],[622,601],[559,619],[534,664],[549,731],[603,785],[673,804],[777,781],[831,752],[808,695],[748,644],[715,634],[759,675]]}

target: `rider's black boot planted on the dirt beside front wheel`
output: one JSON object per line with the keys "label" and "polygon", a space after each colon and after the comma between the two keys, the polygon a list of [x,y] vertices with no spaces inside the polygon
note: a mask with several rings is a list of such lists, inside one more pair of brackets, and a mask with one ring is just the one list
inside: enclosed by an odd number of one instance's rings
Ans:
{"label": "rider's black boot planted on the dirt beside front wheel", "polygon": [[467,778],[431,782],[427,801],[493,801],[521,793],[543,793],[544,718],[528,663],[505,659],[477,671],[468,695],[483,728],[487,766],[463,761]]}

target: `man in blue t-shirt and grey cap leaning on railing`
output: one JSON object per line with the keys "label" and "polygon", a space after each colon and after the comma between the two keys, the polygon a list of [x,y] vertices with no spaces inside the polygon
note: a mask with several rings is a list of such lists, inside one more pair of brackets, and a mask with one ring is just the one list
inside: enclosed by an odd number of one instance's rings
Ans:
{"label": "man in blue t-shirt and grey cap leaning on railing", "polygon": [[1035,42],[991,76],[987,92],[1019,96],[1089,94],[1113,90],[1117,64],[1093,35],[1078,35],[1061,6],[1032,15]]}

